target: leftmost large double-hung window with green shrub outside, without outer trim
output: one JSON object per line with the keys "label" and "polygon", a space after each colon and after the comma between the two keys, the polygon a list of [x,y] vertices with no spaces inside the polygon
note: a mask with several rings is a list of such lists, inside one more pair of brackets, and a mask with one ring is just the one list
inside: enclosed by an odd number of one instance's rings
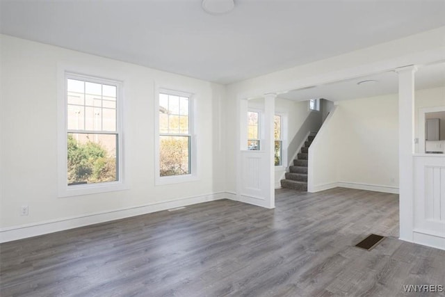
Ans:
{"label": "leftmost large double-hung window with green shrub outside, without outer trim", "polygon": [[120,180],[120,83],[65,76],[66,184]]}

